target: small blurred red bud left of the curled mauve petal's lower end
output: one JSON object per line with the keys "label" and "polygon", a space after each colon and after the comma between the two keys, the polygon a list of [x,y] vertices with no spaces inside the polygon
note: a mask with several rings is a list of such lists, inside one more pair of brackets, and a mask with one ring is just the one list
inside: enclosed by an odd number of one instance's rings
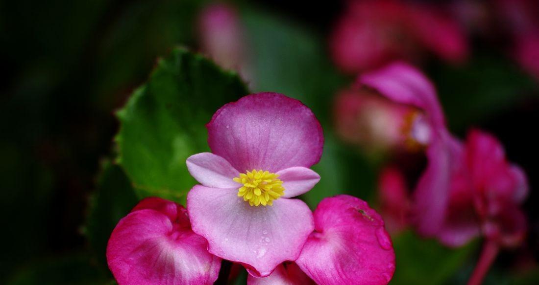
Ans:
{"label": "small blurred red bud left of the curled mauve petal's lower end", "polygon": [[395,167],[385,167],[378,179],[380,213],[386,229],[398,233],[409,225],[410,198],[406,180]]}

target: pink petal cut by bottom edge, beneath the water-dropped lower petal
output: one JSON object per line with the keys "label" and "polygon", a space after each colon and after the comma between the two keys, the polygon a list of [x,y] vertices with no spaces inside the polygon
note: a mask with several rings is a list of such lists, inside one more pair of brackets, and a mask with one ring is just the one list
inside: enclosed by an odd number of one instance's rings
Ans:
{"label": "pink petal cut by bottom edge, beneath the water-dropped lower petal", "polygon": [[277,266],[267,277],[247,276],[247,285],[315,285],[294,262]]}

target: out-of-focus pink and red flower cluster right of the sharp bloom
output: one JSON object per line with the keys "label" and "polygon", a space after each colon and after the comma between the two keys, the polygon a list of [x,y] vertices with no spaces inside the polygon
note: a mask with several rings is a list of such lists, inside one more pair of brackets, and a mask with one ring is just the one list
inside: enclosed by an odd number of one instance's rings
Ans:
{"label": "out-of-focus pink and red flower cluster right of the sharp bloom", "polygon": [[488,248],[521,244],[527,227],[520,210],[528,192],[526,175],[507,161],[492,135],[472,130],[465,142],[452,136],[436,90],[419,70],[397,62],[364,73],[350,91],[336,97],[335,111],[345,140],[357,143],[350,139],[357,125],[370,124],[382,133],[374,138],[376,144],[389,140],[386,144],[393,147],[425,151],[427,165],[411,197],[397,168],[381,174],[381,212],[390,230],[412,224],[423,236],[452,247],[480,235]]}

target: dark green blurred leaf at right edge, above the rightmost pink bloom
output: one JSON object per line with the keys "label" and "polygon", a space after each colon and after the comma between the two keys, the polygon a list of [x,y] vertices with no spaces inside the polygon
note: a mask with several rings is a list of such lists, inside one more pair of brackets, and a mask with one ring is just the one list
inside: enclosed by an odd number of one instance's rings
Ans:
{"label": "dark green blurred leaf at right edge, above the rightmost pink bloom", "polygon": [[460,133],[527,96],[539,95],[537,84],[528,74],[489,51],[478,52],[465,66],[439,64],[431,69],[447,121]]}

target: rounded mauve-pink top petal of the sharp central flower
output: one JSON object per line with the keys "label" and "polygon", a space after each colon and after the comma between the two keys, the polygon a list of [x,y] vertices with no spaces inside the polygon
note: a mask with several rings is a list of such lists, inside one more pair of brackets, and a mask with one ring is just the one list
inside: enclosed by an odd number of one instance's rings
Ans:
{"label": "rounded mauve-pink top petal of the sharp central flower", "polygon": [[307,106],[278,93],[245,96],[219,109],[208,144],[240,172],[310,167],[322,155],[322,127]]}

